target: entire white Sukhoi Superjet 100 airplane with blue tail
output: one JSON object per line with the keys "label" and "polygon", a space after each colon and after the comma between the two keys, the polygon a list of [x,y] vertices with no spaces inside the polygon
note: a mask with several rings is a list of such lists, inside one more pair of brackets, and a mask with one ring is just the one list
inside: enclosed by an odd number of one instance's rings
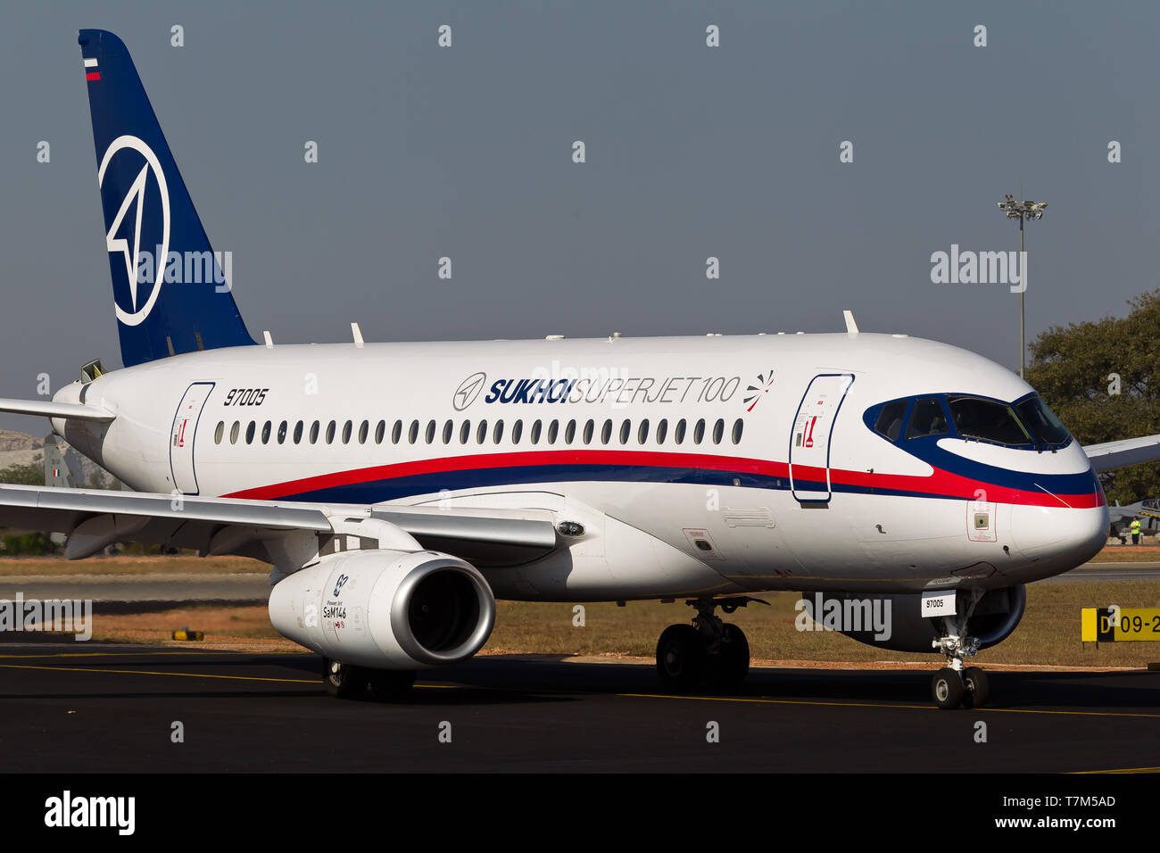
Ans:
{"label": "entire white Sukhoi Superjet 100 airplane with blue tail", "polygon": [[479,651],[496,599],[686,599],[658,677],[732,692],[748,641],[717,609],[792,591],[890,602],[889,638],[843,632],[941,655],[935,704],[980,707],[964,662],[1015,629],[1025,584],[1104,544],[1096,472],[1160,458],[1158,435],[1080,447],[1006,368],[850,313],[834,334],[255,341],[128,49],[79,43],[124,367],[0,411],[133,491],[2,485],[0,523],[65,533],[73,559],[269,563],[271,623],[334,696],[405,697]]}

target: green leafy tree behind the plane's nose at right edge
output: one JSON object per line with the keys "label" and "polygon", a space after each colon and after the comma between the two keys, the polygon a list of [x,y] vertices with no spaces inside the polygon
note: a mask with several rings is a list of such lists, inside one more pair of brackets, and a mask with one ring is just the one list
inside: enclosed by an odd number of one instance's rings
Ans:
{"label": "green leafy tree behind the plane's nose at right edge", "polygon": [[[1027,381],[1081,444],[1160,433],[1160,290],[1128,304],[1126,317],[1052,326],[1030,345]],[[1112,503],[1160,497],[1160,463],[1101,478]]]}

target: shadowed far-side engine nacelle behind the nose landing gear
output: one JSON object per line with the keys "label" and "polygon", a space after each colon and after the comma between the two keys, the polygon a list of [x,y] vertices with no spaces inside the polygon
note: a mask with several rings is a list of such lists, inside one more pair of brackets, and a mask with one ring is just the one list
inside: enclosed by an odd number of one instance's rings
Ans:
{"label": "shadowed far-side engine nacelle behind the nose landing gear", "polygon": [[[817,610],[815,602],[821,597],[821,614]],[[860,619],[854,623],[863,623],[863,629],[850,630],[848,623],[839,621],[838,628],[847,637],[873,645],[879,649],[892,649],[894,651],[934,652],[934,641],[943,636],[942,619],[923,617],[921,615],[921,593],[899,593],[893,595],[873,595],[862,593],[805,593],[802,597],[810,607],[807,608],[813,619],[824,622],[826,613],[833,613],[835,606],[843,615],[854,613]],[[829,603],[835,602],[835,603]],[[889,603],[889,608],[887,608]],[[962,607],[962,599],[959,607]],[[1008,586],[1001,590],[988,590],[974,607],[971,619],[967,622],[967,635],[978,637],[979,648],[986,649],[996,645],[1015,630],[1015,626],[1023,619],[1023,610],[1027,608],[1027,588]],[[889,631],[879,631],[872,622],[877,617],[890,614]],[[876,638],[876,634],[887,634],[886,638]]]}

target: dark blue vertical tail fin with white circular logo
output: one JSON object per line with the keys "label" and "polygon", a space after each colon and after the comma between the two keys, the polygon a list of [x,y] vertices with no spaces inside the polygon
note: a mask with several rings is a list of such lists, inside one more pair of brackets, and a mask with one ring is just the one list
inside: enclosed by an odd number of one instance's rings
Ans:
{"label": "dark blue vertical tail fin with white circular logo", "polygon": [[254,344],[124,43],[81,30],[113,301],[125,367]]}

